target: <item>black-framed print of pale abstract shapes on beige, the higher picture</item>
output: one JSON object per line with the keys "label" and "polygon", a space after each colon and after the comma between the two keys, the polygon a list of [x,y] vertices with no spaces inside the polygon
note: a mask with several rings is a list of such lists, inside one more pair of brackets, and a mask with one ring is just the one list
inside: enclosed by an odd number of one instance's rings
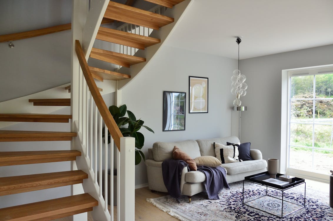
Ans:
{"label": "black-framed print of pale abstract shapes on beige, the higher picture", "polygon": [[208,113],[208,78],[188,77],[188,113]]}

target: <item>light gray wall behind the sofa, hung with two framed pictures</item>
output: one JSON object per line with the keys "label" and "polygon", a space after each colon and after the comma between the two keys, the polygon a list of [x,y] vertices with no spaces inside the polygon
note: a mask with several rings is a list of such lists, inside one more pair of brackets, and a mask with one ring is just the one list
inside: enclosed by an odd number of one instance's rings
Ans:
{"label": "light gray wall behind the sofa, hung with two framed pictures", "polygon": [[[156,141],[180,141],[231,135],[232,71],[237,60],[163,46],[133,82],[122,90],[122,103],[155,134],[145,135],[143,152]],[[208,77],[208,113],[188,113],[188,76]],[[163,91],[186,92],[186,130],[162,131]],[[237,127],[238,128],[238,127]],[[237,134],[237,133],[236,133]],[[136,166],[136,185],[147,183],[146,166]]]}

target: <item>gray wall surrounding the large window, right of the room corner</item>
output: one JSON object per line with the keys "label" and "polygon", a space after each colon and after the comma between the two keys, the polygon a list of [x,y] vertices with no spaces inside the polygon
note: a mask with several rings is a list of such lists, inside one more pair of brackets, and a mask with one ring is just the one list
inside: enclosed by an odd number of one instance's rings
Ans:
{"label": "gray wall surrounding the large window, right of the room corner", "polygon": [[280,159],[281,70],[333,63],[333,45],[308,48],[240,61],[247,94],[242,104],[241,139],[260,149],[264,159]]}

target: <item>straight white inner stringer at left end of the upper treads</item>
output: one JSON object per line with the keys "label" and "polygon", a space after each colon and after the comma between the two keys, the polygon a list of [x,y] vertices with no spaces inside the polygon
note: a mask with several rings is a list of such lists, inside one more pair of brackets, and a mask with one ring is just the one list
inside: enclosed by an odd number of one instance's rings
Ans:
{"label": "straight white inner stringer at left end of the upper treads", "polygon": [[93,48],[98,29],[110,0],[91,1],[86,24],[83,28],[82,49],[86,60]]}

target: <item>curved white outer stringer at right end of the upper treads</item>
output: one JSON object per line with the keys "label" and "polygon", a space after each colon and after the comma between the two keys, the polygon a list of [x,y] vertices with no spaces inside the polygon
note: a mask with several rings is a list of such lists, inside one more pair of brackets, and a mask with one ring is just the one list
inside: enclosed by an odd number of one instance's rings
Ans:
{"label": "curved white outer stringer at right end of the upper treads", "polygon": [[166,16],[170,16],[174,18],[174,22],[168,24],[160,30],[154,30],[151,37],[161,39],[161,43],[150,46],[145,50],[139,50],[135,53],[135,56],[145,57],[146,62],[132,65],[131,68],[121,67],[118,72],[124,74],[130,74],[130,79],[120,80],[118,82],[118,89],[122,90],[125,86],[127,86],[137,75],[139,75],[145,67],[153,60],[154,55],[163,47],[164,43],[167,41],[169,36],[172,34],[174,29],[178,26],[182,18],[185,16],[186,12],[189,10],[190,6],[193,4],[194,0],[186,0],[177,5],[175,5],[172,9],[166,10]]}

